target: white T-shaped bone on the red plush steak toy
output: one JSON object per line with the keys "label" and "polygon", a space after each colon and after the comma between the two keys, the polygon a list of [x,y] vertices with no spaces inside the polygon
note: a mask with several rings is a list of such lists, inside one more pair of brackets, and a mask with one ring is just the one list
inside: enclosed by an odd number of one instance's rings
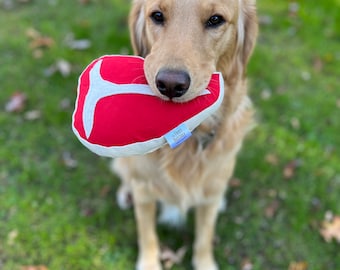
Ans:
{"label": "white T-shaped bone on the red plush steak toy", "polygon": [[[83,124],[86,137],[89,138],[94,122],[94,112],[98,101],[102,98],[118,95],[118,94],[142,94],[149,96],[157,96],[154,94],[147,84],[116,84],[106,81],[100,75],[101,64],[103,60],[99,60],[92,67],[89,78],[89,90],[87,92],[84,108],[83,108]],[[205,89],[200,95],[210,94]]]}

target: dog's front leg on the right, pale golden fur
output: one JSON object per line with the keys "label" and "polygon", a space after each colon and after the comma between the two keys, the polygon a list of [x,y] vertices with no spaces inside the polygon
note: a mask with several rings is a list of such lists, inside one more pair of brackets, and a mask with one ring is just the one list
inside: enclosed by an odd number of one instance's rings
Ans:
{"label": "dog's front leg on the right, pale golden fur", "polygon": [[213,255],[213,239],[219,201],[196,207],[193,265],[195,270],[217,270]]}

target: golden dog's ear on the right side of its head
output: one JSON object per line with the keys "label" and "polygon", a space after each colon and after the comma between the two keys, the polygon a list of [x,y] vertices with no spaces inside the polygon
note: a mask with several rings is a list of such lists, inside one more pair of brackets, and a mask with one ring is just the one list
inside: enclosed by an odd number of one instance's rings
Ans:
{"label": "golden dog's ear on the right side of its head", "polygon": [[246,67],[255,47],[258,33],[256,0],[239,0],[239,3],[238,44],[241,63]]}

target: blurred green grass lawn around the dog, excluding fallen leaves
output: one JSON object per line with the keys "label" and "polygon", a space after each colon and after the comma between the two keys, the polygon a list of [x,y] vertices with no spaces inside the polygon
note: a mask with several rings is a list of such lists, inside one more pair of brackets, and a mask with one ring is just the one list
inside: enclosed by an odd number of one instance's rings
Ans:
{"label": "blurred green grass lawn around the dog, excluding fallen leaves", "polygon": [[[12,2],[5,9],[5,2]],[[221,269],[340,269],[340,246],[319,234],[325,213],[340,215],[340,2],[258,1],[269,16],[249,65],[250,94],[259,125],[240,155],[240,185],[227,194],[219,218],[216,256]],[[115,203],[118,181],[108,160],[77,141],[70,127],[77,77],[94,58],[131,52],[124,0],[0,1],[0,269],[25,265],[54,269],[133,269],[137,256],[132,211]],[[33,56],[27,30],[54,44]],[[89,39],[84,51],[65,38]],[[70,76],[46,70],[58,59]],[[11,95],[26,94],[18,113],[5,112]],[[62,106],[62,101],[70,106]],[[41,112],[29,121],[28,111]],[[70,153],[76,168],[65,165]],[[274,161],[268,162],[268,155]],[[292,177],[283,170],[294,161]],[[276,207],[273,205],[276,204]],[[273,215],[265,209],[275,208]],[[183,232],[160,227],[161,241],[176,249],[193,239],[192,219]],[[181,266],[190,269],[189,249]]]}

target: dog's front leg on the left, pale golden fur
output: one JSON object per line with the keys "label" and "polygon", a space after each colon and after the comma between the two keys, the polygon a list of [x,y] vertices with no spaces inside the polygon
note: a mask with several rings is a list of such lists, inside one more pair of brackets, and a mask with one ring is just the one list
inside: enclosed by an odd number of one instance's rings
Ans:
{"label": "dog's front leg on the left, pale golden fur", "polygon": [[[139,189],[139,188],[137,188]],[[139,255],[137,270],[161,270],[156,234],[156,202],[139,198],[142,190],[134,188],[134,211],[137,221]],[[145,193],[144,193],[145,194]]]}

